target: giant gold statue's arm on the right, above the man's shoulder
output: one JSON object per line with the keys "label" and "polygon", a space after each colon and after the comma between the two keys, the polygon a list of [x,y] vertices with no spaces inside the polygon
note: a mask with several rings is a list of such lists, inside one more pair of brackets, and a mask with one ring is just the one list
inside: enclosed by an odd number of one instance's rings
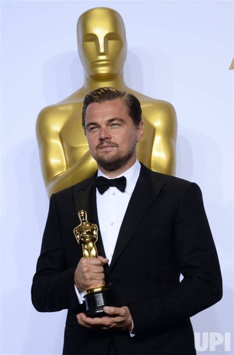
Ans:
{"label": "giant gold statue's arm on the right, above the man's shoulder", "polygon": [[166,101],[157,101],[154,107],[147,108],[147,119],[155,128],[151,154],[151,169],[174,175],[176,167],[177,119],[174,107]]}

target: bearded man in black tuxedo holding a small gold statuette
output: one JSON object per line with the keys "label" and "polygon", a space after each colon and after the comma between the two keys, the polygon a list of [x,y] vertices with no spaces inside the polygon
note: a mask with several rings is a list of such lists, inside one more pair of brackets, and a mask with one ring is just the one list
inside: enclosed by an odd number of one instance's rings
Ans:
{"label": "bearded man in black tuxedo holding a small gold statuette", "polygon": [[[133,95],[109,87],[92,91],[82,123],[99,169],[50,199],[33,304],[40,312],[68,309],[63,354],[193,355],[189,318],[222,297],[200,189],[136,159],[144,123]],[[101,176],[111,183],[105,192]],[[110,180],[121,176],[123,192]],[[82,257],[73,234],[79,210],[98,226],[96,259]],[[86,317],[83,290],[104,283],[112,283],[119,307]]]}

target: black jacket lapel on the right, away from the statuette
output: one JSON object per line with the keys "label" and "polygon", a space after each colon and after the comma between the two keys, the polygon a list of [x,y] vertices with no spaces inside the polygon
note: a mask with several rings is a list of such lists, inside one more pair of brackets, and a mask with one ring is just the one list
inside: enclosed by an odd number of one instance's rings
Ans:
{"label": "black jacket lapel on the right, away from the statuette", "polygon": [[152,171],[145,166],[141,167],[141,172],[137,180],[135,189],[130,198],[126,213],[124,215],[113,254],[109,272],[116,263],[117,258],[127,245],[133,233],[137,229],[144,215],[156,199],[163,182],[156,182]]}

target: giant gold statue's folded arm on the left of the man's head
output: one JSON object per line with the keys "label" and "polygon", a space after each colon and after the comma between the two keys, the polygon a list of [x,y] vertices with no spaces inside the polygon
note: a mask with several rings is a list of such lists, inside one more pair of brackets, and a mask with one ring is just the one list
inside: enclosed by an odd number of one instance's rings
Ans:
{"label": "giant gold statue's folded arm on the left of the man's head", "polygon": [[97,169],[96,162],[89,151],[71,166],[69,155],[61,139],[65,117],[64,111],[47,107],[39,113],[37,119],[40,165],[49,197],[86,179]]}

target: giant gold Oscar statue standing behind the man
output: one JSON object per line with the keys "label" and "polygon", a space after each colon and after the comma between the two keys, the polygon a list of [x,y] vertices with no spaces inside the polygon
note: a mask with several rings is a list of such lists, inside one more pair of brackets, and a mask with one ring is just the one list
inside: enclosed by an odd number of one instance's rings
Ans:
{"label": "giant gold Oscar statue standing behind the man", "polygon": [[83,86],[63,101],[45,107],[37,119],[42,174],[48,196],[84,180],[97,168],[81,125],[84,96],[103,86],[134,94],[141,102],[145,122],[137,157],[152,170],[175,172],[177,135],[173,106],[127,87],[123,65],[127,41],[119,13],[106,7],[92,8],[78,19],[78,52],[84,68]]}

